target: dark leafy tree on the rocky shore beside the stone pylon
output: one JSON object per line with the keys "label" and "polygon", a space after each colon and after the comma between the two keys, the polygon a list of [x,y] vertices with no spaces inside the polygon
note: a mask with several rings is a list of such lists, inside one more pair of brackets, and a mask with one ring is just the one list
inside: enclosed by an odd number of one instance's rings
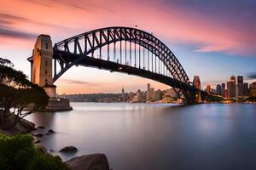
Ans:
{"label": "dark leafy tree on the rocky shore beside the stone pylon", "polygon": [[[0,58],[0,127],[15,127],[25,116],[48,104],[49,96],[44,88],[26,79],[22,71],[16,71],[9,59]],[[30,111],[25,111],[30,106]],[[12,125],[7,122],[15,116]]]}

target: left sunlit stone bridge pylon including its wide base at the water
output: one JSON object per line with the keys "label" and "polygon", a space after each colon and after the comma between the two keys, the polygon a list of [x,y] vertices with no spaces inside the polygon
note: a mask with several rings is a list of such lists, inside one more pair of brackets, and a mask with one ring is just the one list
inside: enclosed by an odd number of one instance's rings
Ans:
{"label": "left sunlit stone bridge pylon including its wide base at the water", "polygon": [[58,99],[56,95],[56,86],[52,78],[52,57],[53,47],[49,35],[40,35],[37,38],[32,53],[31,62],[31,81],[44,88],[49,95],[49,104],[45,111],[70,111],[68,99]]}

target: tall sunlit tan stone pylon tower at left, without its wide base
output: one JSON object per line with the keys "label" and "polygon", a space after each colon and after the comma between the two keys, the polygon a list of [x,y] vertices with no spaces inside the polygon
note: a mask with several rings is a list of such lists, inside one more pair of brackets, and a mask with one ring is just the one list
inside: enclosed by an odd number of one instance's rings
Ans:
{"label": "tall sunlit tan stone pylon tower at left, without its wide base", "polygon": [[33,50],[32,82],[43,87],[51,98],[56,97],[52,80],[53,48],[49,35],[40,35]]}

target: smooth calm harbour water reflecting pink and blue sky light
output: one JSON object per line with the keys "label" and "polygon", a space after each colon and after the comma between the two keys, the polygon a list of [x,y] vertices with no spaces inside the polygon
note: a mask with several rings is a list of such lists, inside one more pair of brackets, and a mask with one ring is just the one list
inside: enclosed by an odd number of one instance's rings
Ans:
{"label": "smooth calm harbour water reflecting pink and blue sky light", "polygon": [[[113,170],[256,169],[256,105],[71,105],[28,117],[56,131],[40,140],[63,160],[105,153]],[[67,145],[79,151],[58,153]]]}

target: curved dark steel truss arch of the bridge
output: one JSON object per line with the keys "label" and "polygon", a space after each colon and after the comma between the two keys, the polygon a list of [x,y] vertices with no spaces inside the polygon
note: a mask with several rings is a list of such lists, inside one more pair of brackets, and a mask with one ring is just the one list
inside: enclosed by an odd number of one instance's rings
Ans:
{"label": "curved dark steel truss arch of the bridge", "polygon": [[[82,47],[82,41],[84,47]],[[172,79],[182,82],[183,84],[187,84],[189,87],[191,86],[191,82],[189,82],[189,77],[184,71],[183,66],[163,42],[146,31],[131,27],[101,28],[55,43],[53,56],[55,61],[53,82],[61,77],[61,75],[73,65],[82,65],[82,61],[85,58],[88,58],[88,56],[93,56],[96,50],[99,50],[101,57],[102,48],[104,46],[108,46],[109,59],[109,45],[112,43],[115,44],[115,42],[133,42],[148,49],[148,51],[157,56],[157,58],[163,62],[167,71],[171,73]],[[73,46],[71,47],[70,44],[73,44]],[[61,71],[59,72],[56,71],[57,62],[61,66]],[[184,90],[183,88],[174,88],[174,90],[178,97],[183,95],[183,97],[186,98],[189,95],[188,89]]]}

